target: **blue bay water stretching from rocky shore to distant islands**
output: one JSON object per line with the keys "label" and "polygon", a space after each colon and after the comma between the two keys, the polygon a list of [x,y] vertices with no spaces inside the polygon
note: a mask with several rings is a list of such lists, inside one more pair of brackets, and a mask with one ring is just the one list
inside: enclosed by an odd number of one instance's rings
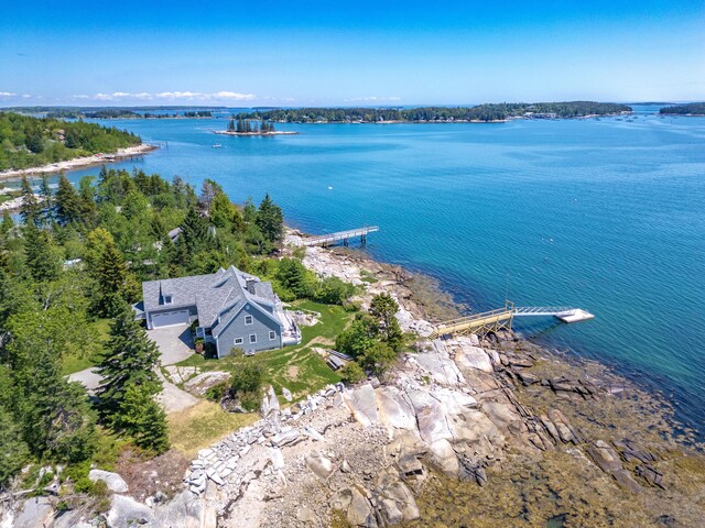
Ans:
{"label": "blue bay water stretching from rocky shore to distant islands", "polygon": [[523,329],[663,391],[702,435],[705,119],[651,111],[633,122],[291,124],[279,128],[301,134],[278,138],[213,135],[225,120],[109,124],[169,142],[120,166],[214,178],[236,201],[269,191],[314,233],[379,224],[373,256],[437,277],[473,309],[508,296],[592,311]]}

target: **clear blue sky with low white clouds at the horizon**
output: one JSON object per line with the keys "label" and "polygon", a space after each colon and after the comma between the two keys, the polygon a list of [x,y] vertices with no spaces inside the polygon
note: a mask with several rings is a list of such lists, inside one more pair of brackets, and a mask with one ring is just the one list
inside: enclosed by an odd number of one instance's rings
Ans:
{"label": "clear blue sky with low white clouds at the horizon", "polygon": [[197,6],[0,1],[0,106],[705,99],[703,0]]}

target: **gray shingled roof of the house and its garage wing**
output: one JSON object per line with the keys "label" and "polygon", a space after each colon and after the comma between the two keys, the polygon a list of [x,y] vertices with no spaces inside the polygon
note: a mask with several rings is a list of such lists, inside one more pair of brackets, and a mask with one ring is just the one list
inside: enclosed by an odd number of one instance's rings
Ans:
{"label": "gray shingled roof of the house and its garage wing", "polygon": [[[275,305],[279,300],[271,283],[263,283],[235,266],[209,275],[149,280],[142,283],[142,295],[147,311],[196,306],[198,323],[213,327],[214,334],[228,326],[245,302],[261,307]],[[172,296],[170,305],[161,304],[165,295]],[[262,312],[281,324],[268,310],[262,309]],[[216,324],[218,316],[220,322]]]}

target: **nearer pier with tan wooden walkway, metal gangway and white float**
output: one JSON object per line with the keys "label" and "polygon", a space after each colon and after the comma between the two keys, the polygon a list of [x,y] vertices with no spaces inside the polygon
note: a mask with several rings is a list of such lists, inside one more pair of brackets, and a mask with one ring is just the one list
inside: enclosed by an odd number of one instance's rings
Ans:
{"label": "nearer pier with tan wooden walkway, metal gangway and white float", "polygon": [[579,308],[566,306],[523,306],[514,307],[507,301],[503,308],[474,314],[458,319],[452,319],[436,326],[431,339],[442,336],[487,336],[499,330],[511,330],[514,317],[555,317],[563,322],[579,322],[593,319],[595,316]]}

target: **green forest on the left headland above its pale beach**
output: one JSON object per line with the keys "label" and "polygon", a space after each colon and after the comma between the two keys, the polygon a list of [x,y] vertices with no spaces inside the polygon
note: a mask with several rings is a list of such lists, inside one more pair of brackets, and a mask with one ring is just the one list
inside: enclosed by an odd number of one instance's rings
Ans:
{"label": "green forest on the left headland above its pale beach", "polygon": [[111,153],[141,142],[116,128],[0,112],[0,170]]}

